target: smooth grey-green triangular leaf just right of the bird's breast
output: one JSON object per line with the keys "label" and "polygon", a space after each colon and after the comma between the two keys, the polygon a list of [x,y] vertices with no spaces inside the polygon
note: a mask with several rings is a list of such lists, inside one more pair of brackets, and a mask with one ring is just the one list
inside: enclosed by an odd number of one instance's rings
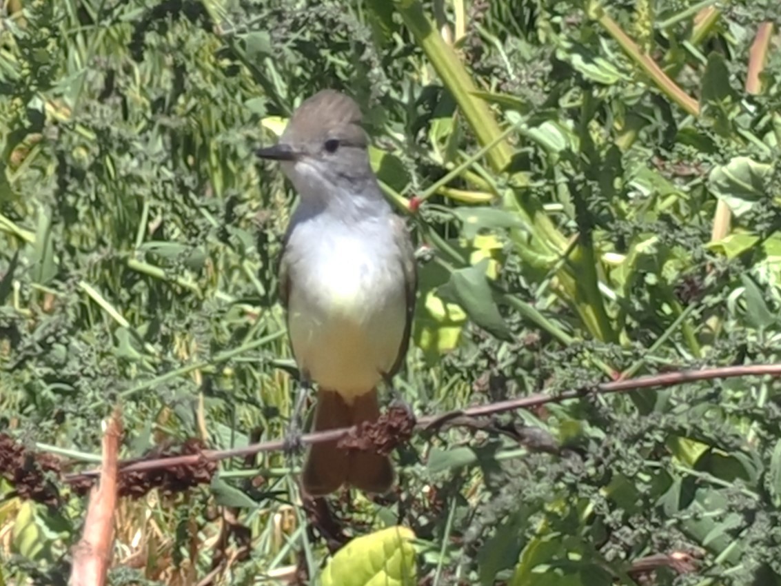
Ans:
{"label": "smooth grey-green triangular leaf just right of the bird's breast", "polygon": [[488,259],[473,266],[454,270],[450,280],[439,288],[439,294],[462,306],[469,319],[501,340],[512,340],[512,335],[494,302],[486,268]]}

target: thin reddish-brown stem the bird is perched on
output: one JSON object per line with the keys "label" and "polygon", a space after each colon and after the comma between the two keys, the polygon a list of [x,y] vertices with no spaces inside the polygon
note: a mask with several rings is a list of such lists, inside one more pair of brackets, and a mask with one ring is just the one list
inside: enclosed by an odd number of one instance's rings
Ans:
{"label": "thin reddish-brown stem the bird is perched on", "polygon": [[[751,366],[722,366],[717,368],[705,368],[702,370],[660,373],[626,379],[624,381],[595,384],[593,387],[563,391],[562,393],[558,393],[558,395],[536,393],[527,397],[512,398],[506,401],[473,406],[466,409],[456,409],[448,413],[440,413],[439,415],[423,416],[415,421],[414,429],[418,432],[426,432],[440,428],[442,423],[448,423],[448,427],[453,427],[453,425],[465,425],[467,424],[465,418],[469,417],[489,416],[496,413],[514,411],[516,409],[530,409],[532,407],[546,405],[547,403],[562,402],[591,394],[624,393],[646,388],[666,388],[676,386],[677,384],[749,376],[781,377],[781,363]],[[305,434],[301,437],[301,444],[312,445],[322,441],[340,440],[342,438],[348,438],[348,436],[359,437],[360,430],[356,427],[343,427],[341,429]],[[124,465],[120,463],[120,471],[122,473],[130,473],[145,470],[158,470],[160,468],[169,468],[172,466],[193,466],[203,462],[216,462],[223,459],[252,456],[259,452],[276,452],[284,449],[284,447],[285,442],[280,439],[261,441],[242,448],[203,450],[198,454],[187,454],[185,456],[169,456],[141,461],[138,459],[126,460]],[[82,473],[68,474],[64,477],[64,481],[68,483],[83,482],[90,477],[97,476],[98,473],[99,470],[87,470]]]}

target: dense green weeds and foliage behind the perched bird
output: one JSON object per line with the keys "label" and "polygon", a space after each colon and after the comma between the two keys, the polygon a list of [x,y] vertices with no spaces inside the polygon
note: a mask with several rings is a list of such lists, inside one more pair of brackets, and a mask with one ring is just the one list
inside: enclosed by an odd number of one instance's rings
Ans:
{"label": "dense green weeds and foliage behind the perched bird", "polygon": [[[252,152],[321,88],[362,104],[424,247],[397,381],[416,413],[776,360],[776,2],[4,9],[0,430],[29,448],[94,465],[116,404],[126,457],[280,437],[293,194]],[[670,552],[697,570],[656,583],[781,584],[778,397],[754,378],[551,404],[499,423],[563,451],[415,437],[394,495],[330,504],[348,535],[414,531],[416,578],[391,584],[633,584]],[[0,584],[65,583],[85,502],[59,488],[51,507],[0,480]],[[310,522],[284,456],[230,460],[123,500],[110,579],[316,583]],[[323,582],[366,584],[356,567]]]}

